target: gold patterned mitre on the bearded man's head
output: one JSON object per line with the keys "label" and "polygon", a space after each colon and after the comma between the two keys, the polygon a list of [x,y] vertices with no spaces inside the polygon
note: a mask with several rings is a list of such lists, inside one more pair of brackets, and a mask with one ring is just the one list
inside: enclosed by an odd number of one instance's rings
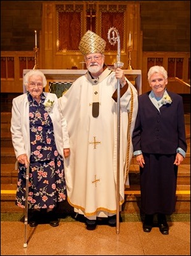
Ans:
{"label": "gold patterned mitre on the bearded man's head", "polygon": [[78,48],[83,55],[87,55],[90,53],[104,53],[105,47],[106,41],[94,32],[88,30],[81,38]]}

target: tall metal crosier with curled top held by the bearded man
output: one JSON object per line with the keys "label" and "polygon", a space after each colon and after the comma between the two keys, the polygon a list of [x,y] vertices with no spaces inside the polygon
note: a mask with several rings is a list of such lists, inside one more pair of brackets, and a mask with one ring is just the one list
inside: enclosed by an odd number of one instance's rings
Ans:
{"label": "tall metal crosier with curled top held by the bearded man", "polygon": [[[110,34],[112,32],[112,38]],[[117,37],[115,37],[115,34]],[[111,45],[117,43],[117,62],[114,63],[114,68],[122,68],[123,62],[120,62],[120,36],[118,30],[115,27],[111,27],[108,31],[108,40]],[[117,80],[117,185],[116,185],[116,197],[117,197],[117,225],[116,232],[119,234],[119,212],[120,212],[120,80]]]}

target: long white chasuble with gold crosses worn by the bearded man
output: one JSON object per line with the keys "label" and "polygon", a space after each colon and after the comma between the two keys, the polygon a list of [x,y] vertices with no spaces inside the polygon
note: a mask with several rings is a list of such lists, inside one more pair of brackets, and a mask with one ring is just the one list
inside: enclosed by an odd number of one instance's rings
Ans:
{"label": "long white chasuble with gold crosses worn by the bearded man", "polygon": [[[89,219],[117,213],[117,103],[112,99],[117,79],[107,68],[97,81],[99,90],[87,72],[59,98],[71,146],[69,157],[64,159],[67,200],[74,211]],[[138,111],[137,90],[127,82],[129,87],[120,99],[120,205],[128,183],[131,136]],[[97,117],[92,115],[94,102],[99,102]]]}

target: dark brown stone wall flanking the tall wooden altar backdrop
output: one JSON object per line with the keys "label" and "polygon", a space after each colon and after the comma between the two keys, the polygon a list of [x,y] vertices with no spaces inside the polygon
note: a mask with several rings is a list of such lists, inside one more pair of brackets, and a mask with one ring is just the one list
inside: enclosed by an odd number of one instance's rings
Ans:
{"label": "dark brown stone wall flanking the tall wooden altar backdrop", "polygon": [[[1,51],[33,49],[45,2],[1,1]],[[135,2],[141,4],[143,52],[190,52],[190,1]]]}

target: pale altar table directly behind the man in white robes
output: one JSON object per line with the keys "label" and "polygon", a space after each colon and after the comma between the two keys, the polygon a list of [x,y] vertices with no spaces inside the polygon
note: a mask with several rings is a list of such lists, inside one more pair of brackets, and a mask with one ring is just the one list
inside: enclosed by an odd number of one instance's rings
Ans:
{"label": "pale altar table directly behind the man in white robes", "polygon": [[[24,69],[23,76],[31,69]],[[45,87],[45,92],[52,92],[57,95],[57,97],[62,96],[62,93],[69,89],[72,83],[80,76],[87,73],[87,69],[39,69],[42,71],[47,80],[47,85]],[[124,69],[125,76],[127,79],[136,87],[138,90],[138,95],[142,93],[142,80],[141,80],[141,70],[129,70]],[[23,86],[24,92],[25,86]]]}

